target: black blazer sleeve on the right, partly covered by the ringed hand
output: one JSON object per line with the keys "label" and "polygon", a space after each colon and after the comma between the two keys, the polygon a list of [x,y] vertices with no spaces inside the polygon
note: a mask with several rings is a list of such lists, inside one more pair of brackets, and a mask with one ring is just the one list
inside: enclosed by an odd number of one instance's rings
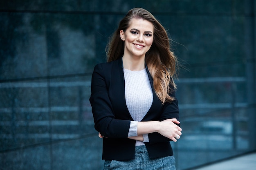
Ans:
{"label": "black blazer sleeve on the right, partly covered by the ringed hand", "polygon": [[[176,118],[178,121],[180,121],[179,106],[178,106],[178,100],[175,97],[175,90],[174,90],[173,86],[170,86],[170,88],[172,89],[170,96],[174,97],[175,100],[173,102],[165,102],[164,103],[159,121],[163,121],[163,120],[171,119],[171,118]],[[180,126],[180,124],[177,124],[177,125]],[[164,137],[157,132],[148,134],[148,138],[149,138],[150,144],[154,144],[157,142],[163,142],[163,141],[172,141],[171,139]]]}

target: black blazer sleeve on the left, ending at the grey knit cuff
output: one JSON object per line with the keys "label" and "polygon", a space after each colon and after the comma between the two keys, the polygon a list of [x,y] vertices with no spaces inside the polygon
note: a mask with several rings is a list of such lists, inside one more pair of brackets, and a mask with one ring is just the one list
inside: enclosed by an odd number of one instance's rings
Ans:
{"label": "black blazer sleeve on the left, ending at the grey knit cuff", "polygon": [[[106,70],[108,69],[108,70]],[[97,64],[92,73],[90,104],[94,117],[94,128],[103,137],[127,138],[130,120],[115,119],[112,104],[108,95],[108,82],[111,79],[110,68],[103,69]]]}

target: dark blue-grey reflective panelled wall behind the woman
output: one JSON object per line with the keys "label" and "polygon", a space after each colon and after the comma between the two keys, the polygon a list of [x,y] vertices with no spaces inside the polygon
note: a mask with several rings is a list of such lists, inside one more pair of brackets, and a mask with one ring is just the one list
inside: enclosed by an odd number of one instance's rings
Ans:
{"label": "dark blue-grey reflective panelled wall behind the woman", "polygon": [[134,7],[183,66],[177,170],[256,151],[254,0],[0,0],[0,170],[103,169],[91,74]]}

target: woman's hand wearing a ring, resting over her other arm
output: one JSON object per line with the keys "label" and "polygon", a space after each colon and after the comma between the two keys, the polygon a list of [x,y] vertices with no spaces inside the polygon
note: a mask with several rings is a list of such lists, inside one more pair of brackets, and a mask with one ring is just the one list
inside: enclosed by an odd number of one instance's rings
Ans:
{"label": "woman's hand wearing a ring, resting over her other arm", "polygon": [[175,118],[160,121],[157,132],[176,142],[177,139],[180,139],[180,136],[182,135],[182,128],[176,124],[180,124],[180,122]]}

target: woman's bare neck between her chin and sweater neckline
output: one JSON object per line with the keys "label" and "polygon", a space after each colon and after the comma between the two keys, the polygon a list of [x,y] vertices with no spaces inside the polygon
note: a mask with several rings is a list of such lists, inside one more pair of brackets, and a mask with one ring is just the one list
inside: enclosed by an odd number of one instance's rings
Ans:
{"label": "woman's bare neck between her chin and sweater neckline", "polygon": [[145,57],[141,58],[132,58],[132,57],[123,57],[123,67],[131,71],[140,71],[145,68]]}

